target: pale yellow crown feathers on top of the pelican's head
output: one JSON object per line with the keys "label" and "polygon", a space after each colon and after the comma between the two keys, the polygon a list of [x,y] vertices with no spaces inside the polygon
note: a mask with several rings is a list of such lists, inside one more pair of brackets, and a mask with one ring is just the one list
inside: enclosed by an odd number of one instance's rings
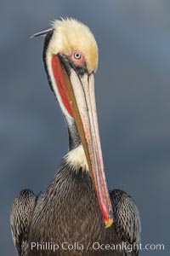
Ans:
{"label": "pale yellow crown feathers on top of the pelican's head", "polygon": [[53,37],[48,45],[48,53],[71,55],[72,49],[80,50],[85,57],[88,72],[98,67],[98,45],[88,26],[74,19],[54,20]]}

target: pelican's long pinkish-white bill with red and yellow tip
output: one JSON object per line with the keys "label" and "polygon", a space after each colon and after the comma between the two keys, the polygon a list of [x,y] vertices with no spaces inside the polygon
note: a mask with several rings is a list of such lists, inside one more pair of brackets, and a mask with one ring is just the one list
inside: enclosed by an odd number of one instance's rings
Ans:
{"label": "pelican's long pinkish-white bill with red and yellow tip", "polygon": [[[63,61],[62,61],[63,62]],[[77,125],[77,131],[88,161],[89,172],[99,201],[99,208],[105,220],[105,227],[113,223],[111,199],[105,182],[105,170],[99,139],[99,127],[94,95],[94,73],[84,73],[81,77],[70,67],[60,63],[55,56],[54,69],[58,70],[57,84],[65,90],[67,108]]]}

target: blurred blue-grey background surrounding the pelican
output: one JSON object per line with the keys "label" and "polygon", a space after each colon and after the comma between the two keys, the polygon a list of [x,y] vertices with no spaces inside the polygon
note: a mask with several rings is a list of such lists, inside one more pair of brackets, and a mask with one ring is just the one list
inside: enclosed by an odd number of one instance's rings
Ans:
{"label": "blurred blue-grey background surrounding the pelican", "polygon": [[136,201],[143,243],[170,251],[170,2],[164,0],[8,1],[0,9],[1,255],[16,255],[9,210],[20,189],[47,187],[67,152],[58,103],[42,65],[43,38],[60,16],[82,20],[99,44],[95,76],[109,189]]}

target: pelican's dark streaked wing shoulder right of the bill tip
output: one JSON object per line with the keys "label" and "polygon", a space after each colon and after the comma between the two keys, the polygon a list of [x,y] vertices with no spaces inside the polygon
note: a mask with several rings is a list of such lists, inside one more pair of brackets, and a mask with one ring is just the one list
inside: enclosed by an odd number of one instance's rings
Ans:
{"label": "pelican's dark streaked wing shoulder right of the bill tip", "polygon": [[139,255],[141,232],[139,209],[133,198],[120,189],[112,190],[110,196],[114,210],[117,236],[128,247],[132,247],[132,252],[127,253],[127,255]]}

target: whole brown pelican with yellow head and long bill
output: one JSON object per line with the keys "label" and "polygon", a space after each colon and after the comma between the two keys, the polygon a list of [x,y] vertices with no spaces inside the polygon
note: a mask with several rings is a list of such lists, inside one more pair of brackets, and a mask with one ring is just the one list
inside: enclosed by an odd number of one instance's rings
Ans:
{"label": "whole brown pelican with yellow head and long bill", "polygon": [[[140,219],[133,199],[108,192],[94,96],[98,46],[73,19],[55,20],[43,62],[69,133],[69,152],[40,195],[15,198],[10,223],[18,255],[139,255]],[[131,246],[131,247],[129,247]]]}

